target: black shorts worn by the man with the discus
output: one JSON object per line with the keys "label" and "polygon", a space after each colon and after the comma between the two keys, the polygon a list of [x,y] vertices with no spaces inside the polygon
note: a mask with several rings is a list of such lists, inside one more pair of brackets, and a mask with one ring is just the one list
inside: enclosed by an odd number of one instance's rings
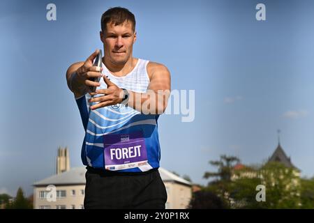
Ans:
{"label": "black shorts worn by the man with the discus", "polygon": [[84,208],[165,209],[167,192],[158,169],[118,173],[87,167]]}

